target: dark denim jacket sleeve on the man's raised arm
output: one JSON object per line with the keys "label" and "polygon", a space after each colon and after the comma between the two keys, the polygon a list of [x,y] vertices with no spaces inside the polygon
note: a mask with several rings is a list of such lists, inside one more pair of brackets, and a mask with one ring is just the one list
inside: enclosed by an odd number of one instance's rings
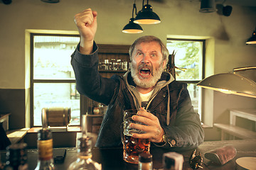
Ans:
{"label": "dark denim jacket sleeve on the man's raised arm", "polygon": [[114,95],[117,82],[114,79],[100,76],[98,72],[98,47],[95,42],[91,55],[82,55],[78,49],[79,45],[71,55],[78,92],[94,101],[108,105]]}

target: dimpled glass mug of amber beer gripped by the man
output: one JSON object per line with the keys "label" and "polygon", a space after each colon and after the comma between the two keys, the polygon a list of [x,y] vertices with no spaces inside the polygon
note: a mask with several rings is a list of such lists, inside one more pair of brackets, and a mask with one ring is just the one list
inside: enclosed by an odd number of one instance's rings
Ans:
{"label": "dimpled glass mug of amber beer gripped by the man", "polygon": [[137,115],[136,109],[129,109],[124,111],[124,118],[122,123],[122,143],[123,143],[123,159],[125,162],[138,164],[139,154],[149,153],[150,142],[149,139],[138,139],[132,137],[133,133],[144,133],[130,127],[131,123],[142,124],[132,120],[133,115]]}

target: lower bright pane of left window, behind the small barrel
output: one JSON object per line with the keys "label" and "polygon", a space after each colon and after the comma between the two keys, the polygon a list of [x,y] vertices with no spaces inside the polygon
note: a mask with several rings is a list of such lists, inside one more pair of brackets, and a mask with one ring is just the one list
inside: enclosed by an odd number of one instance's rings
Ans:
{"label": "lower bright pane of left window, behind the small barrel", "polygon": [[34,125],[42,125],[42,108],[51,107],[70,108],[69,125],[80,125],[80,95],[75,89],[75,83],[35,83],[33,88]]}

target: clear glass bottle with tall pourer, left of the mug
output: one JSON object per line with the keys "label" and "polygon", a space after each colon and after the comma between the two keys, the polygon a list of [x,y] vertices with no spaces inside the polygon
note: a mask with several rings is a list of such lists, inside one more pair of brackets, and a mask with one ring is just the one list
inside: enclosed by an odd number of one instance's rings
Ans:
{"label": "clear glass bottle with tall pourer, left of the mug", "polygon": [[87,136],[86,115],[82,115],[82,137],[78,139],[78,157],[68,170],[100,170],[101,164],[92,160],[92,137]]}

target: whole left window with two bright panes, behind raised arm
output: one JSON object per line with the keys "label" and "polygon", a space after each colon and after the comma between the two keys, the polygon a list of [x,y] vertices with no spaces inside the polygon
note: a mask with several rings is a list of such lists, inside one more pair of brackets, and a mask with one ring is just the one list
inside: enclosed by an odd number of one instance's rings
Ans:
{"label": "whole left window with two bright panes, behind raised arm", "polygon": [[78,35],[31,34],[31,113],[41,126],[42,108],[70,108],[70,125],[80,125],[80,95],[70,64]]}

